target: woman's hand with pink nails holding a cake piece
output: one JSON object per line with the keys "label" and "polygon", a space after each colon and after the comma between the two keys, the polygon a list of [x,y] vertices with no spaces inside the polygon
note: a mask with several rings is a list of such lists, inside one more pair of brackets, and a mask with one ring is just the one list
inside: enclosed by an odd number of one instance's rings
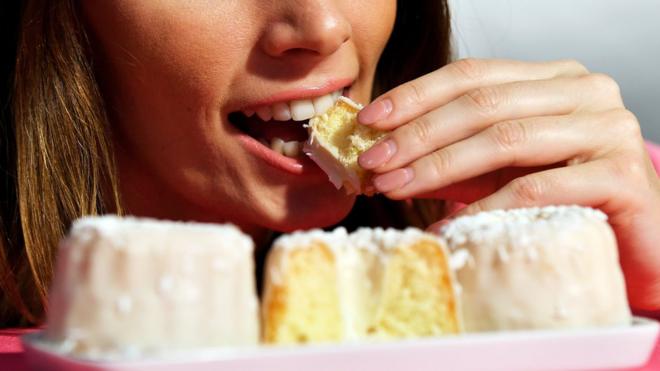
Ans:
{"label": "woman's hand with pink nails holding a cake piece", "polygon": [[392,130],[360,156],[392,199],[483,210],[579,204],[609,216],[631,305],[660,309],[660,180],[618,85],[575,61],[461,60],[365,107]]}

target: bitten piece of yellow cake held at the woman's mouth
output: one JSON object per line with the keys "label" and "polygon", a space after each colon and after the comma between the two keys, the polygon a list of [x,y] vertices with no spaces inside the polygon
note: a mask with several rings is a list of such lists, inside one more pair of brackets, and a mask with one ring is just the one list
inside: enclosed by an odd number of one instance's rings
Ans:
{"label": "bitten piece of yellow cake held at the woman's mouth", "polygon": [[360,109],[360,104],[339,97],[324,114],[309,120],[309,138],[303,152],[328,174],[337,189],[344,187],[347,194],[371,195],[371,173],[362,169],[357,159],[386,133],[359,124]]}

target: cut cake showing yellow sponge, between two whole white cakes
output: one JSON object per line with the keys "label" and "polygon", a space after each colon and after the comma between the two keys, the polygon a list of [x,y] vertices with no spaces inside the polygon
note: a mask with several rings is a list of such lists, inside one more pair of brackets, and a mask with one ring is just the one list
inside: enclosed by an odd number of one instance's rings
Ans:
{"label": "cut cake showing yellow sponge, between two whole white cakes", "polygon": [[448,255],[433,235],[296,232],[277,239],[267,257],[266,343],[437,336],[460,327]]}

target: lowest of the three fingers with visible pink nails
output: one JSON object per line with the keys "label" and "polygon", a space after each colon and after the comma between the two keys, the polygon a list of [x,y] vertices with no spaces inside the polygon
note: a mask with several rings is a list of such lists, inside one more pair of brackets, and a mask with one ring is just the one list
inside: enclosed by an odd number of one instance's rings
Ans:
{"label": "lowest of the three fingers with visible pink nails", "polygon": [[[508,167],[532,167],[568,160],[583,162],[617,145],[612,137],[624,126],[606,123],[627,115],[581,113],[504,121],[429,155],[405,168],[377,175],[374,187],[404,199]],[[626,130],[626,129],[623,129]],[[496,177],[484,178],[497,180]],[[492,189],[492,184],[481,184]]]}

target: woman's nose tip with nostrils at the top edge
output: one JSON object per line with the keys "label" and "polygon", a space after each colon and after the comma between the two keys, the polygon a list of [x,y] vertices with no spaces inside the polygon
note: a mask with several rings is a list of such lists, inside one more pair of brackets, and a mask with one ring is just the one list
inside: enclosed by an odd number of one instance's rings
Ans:
{"label": "woman's nose tip with nostrils at the top edge", "polygon": [[[281,1],[281,0],[280,0]],[[351,24],[333,1],[281,1],[279,15],[269,22],[260,43],[272,57],[327,56],[351,38]]]}

